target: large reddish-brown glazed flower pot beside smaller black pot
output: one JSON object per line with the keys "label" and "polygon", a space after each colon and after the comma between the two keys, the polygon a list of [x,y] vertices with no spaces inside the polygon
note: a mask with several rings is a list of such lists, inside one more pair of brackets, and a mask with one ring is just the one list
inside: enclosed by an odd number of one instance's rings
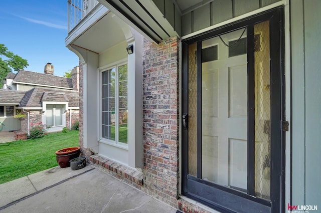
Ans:
{"label": "large reddish-brown glazed flower pot beside smaller black pot", "polygon": [[70,160],[79,157],[80,147],[68,147],[56,151],[56,160],[61,168],[70,166]]}

